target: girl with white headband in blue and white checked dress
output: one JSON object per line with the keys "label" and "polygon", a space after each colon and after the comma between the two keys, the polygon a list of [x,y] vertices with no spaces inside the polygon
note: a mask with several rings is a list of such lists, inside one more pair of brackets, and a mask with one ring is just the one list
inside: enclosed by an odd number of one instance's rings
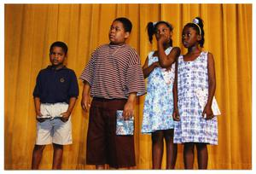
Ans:
{"label": "girl with white headband in blue and white checked dress", "polygon": [[[185,169],[193,169],[194,147],[199,169],[207,169],[207,144],[218,144],[217,118],[212,113],[216,80],[213,55],[202,51],[204,29],[201,18],[183,27],[182,42],[188,49],[176,63],[174,83],[174,143],[183,143]],[[201,95],[206,91],[202,106]],[[214,111],[213,111],[214,112]]]}

